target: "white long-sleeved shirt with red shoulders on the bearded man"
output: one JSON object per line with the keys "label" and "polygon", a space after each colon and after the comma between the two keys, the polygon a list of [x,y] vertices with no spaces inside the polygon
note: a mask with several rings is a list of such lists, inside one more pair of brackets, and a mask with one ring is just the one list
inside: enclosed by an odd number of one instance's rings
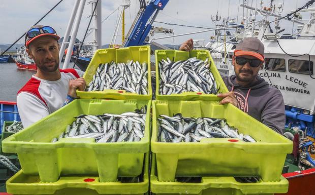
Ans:
{"label": "white long-sleeved shirt with red shoulders on the bearded man", "polygon": [[69,81],[84,74],[75,69],[60,70],[60,73],[57,81],[47,81],[33,75],[18,91],[16,102],[24,128],[62,107],[68,94]]}

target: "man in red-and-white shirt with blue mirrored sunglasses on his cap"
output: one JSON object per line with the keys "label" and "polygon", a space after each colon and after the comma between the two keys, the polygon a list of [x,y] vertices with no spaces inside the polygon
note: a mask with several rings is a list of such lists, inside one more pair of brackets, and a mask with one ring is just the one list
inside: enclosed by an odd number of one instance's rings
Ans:
{"label": "man in red-and-white shirt with blue mirrored sunglasses on his cap", "polygon": [[50,26],[32,26],[25,35],[25,47],[37,72],[18,91],[17,106],[23,127],[27,127],[77,98],[84,90],[83,73],[59,69],[59,36]]}

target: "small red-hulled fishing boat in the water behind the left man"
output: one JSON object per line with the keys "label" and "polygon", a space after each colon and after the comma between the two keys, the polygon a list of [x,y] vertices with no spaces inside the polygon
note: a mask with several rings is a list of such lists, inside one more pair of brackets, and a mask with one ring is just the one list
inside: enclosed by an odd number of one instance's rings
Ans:
{"label": "small red-hulled fishing boat in the water behind the left man", "polygon": [[17,51],[14,61],[19,69],[37,70],[35,61],[28,57],[24,46],[21,46],[20,50]]}

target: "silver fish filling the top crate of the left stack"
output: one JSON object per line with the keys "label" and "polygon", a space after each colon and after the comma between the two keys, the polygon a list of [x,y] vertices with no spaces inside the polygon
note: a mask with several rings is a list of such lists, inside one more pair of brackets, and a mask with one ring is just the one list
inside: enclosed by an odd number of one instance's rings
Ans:
{"label": "silver fish filling the top crate of the left stack", "polygon": [[103,91],[105,89],[125,90],[130,93],[148,94],[147,63],[138,61],[127,63],[99,64],[92,81],[85,91]]}

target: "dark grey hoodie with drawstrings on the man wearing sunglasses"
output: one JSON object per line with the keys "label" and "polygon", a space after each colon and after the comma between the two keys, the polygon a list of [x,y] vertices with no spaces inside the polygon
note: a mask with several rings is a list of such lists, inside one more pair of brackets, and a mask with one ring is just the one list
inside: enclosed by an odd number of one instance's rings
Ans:
{"label": "dark grey hoodie with drawstrings on the man wearing sunglasses", "polygon": [[235,75],[223,77],[229,91],[234,92],[238,108],[274,131],[283,134],[286,114],[281,92],[270,87],[259,75],[249,87],[240,87],[235,80]]}

